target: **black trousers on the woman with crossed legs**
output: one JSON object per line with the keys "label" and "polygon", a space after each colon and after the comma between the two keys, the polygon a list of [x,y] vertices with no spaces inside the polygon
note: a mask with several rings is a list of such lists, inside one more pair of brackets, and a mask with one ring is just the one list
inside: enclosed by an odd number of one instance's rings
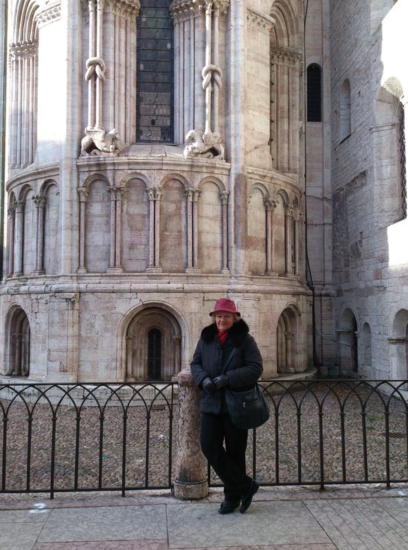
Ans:
{"label": "black trousers on the woman with crossed legs", "polygon": [[230,502],[240,500],[251,488],[252,478],[247,476],[245,467],[247,441],[248,430],[236,428],[229,415],[203,412],[201,449],[224,483],[225,500]]}

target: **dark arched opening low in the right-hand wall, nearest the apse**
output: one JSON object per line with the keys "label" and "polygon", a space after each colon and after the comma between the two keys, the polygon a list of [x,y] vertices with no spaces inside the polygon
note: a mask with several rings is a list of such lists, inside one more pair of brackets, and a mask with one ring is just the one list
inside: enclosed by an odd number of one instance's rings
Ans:
{"label": "dark arched opening low in the right-hand wall, nearest the apse", "polygon": [[339,365],[343,373],[359,372],[359,341],[356,318],[351,309],[345,309],[337,330]]}

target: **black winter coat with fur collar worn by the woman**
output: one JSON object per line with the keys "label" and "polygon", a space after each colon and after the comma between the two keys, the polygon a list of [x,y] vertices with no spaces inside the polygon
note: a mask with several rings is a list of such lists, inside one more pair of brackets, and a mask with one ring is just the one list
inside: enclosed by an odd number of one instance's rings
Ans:
{"label": "black winter coat with fur collar worn by the woman", "polygon": [[[205,327],[191,362],[191,373],[196,386],[201,388],[205,377],[214,379],[223,371],[223,366],[236,347],[234,358],[229,362],[225,374],[232,390],[243,390],[253,386],[262,374],[262,357],[256,341],[249,334],[247,323],[240,319],[229,329],[227,340],[221,346],[217,338],[215,323]],[[208,393],[203,391],[201,412],[219,415],[225,412],[225,390]]]}

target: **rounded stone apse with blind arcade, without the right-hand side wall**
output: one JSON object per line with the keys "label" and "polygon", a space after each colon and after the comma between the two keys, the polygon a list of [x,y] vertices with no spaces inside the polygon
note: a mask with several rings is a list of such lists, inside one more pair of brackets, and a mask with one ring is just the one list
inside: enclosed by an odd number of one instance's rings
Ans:
{"label": "rounded stone apse with blind arcade, without the right-hand side wall", "polygon": [[1,373],[171,380],[214,301],[229,296],[264,377],[302,375],[310,292],[298,3],[165,2],[165,22],[151,17],[172,25],[161,44],[174,51],[170,117],[159,80],[156,110],[150,103],[151,2],[11,4],[10,33],[29,15],[32,27],[9,41]]}

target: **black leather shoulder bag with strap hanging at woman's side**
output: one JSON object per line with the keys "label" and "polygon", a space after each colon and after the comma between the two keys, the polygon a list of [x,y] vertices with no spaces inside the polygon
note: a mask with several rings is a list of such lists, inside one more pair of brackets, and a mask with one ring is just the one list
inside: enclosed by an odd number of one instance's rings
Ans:
{"label": "black leather shoulder bag with strap hanging at woman's side", "polygon": [[[225,363],[223,373],[231,359],[234,357],[236,348],[231,351],[227,362]],[[231,421],[241,430],[251,430],[262,426],[269,419],[269,407],[262,395],[262,390],[256,382],[253,388],[244,391],[234,391],[231,388],[225,388],[225,403]]]}

